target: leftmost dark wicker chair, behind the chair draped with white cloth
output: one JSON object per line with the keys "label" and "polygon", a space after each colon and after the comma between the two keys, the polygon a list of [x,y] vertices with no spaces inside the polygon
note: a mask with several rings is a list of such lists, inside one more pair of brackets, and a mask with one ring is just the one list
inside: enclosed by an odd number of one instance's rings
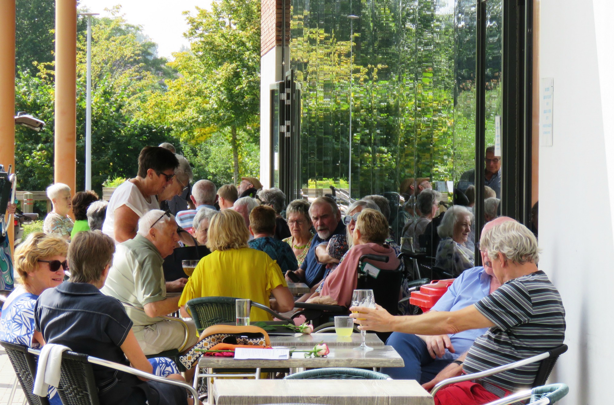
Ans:
{"label": "leftmost dark wicker chair, behind the chair draped with white cloth", "polygon": [[[8,343],[0,341],[6,354],[9,355],[10,363],[15,369],[17,374],[17,380],[21,384],[23,394],[25,395],[30,405],[49,405],[47,397],[35,395],[32,391],[34,389],[34,376],[36,376],[36,356],[28,352],[28,347],[21,346],[20,344]],[[14,388],[17,387],[17,381],[14,383]],[[9,404],[12,403],[14,390],[11,392]]]}

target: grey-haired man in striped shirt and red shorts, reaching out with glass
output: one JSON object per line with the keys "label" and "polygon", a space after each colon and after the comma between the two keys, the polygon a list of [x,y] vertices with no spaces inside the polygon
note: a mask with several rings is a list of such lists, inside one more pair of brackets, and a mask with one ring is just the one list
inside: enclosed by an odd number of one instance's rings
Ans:
{"label": "grey-haired man in striped shirt and red shorts, reaching out with glass", "polygon": [[[533,233],[522,224],[503,222],[483,233],[480,249],[486,259],[484,265],[492,268],[502,286],[473,305],[419,316],[392,316],[379,306],[350,308],[361,312],[351,314],[361,330],[442,335],[488,328],[457,363],[443,369],[424,388],[463,371],[477,373],[513,363],[563,343],[565,309],[556,287],[537,268],[539,254]],[[533,363],[476,382],[448,385],[437,393],[435,404],[445,405],[453,399],[454,404],[473,405],[478,396],[493,401],[518,388],[530,387],[538,366]]]}

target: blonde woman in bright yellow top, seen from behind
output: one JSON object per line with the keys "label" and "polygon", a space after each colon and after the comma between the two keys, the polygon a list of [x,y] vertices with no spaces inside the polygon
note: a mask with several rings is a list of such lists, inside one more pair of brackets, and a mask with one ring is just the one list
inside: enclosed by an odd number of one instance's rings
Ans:
{"label": "blonde woman in bright yellow top, seen from behind", "polygon": [[[200,259],[179,299],[181,314],[192,298],[247,298],[278,312],[294,308],[292,293],[279,265],[265,252],[247,246],[249,232],[241,214],[216,213],[209,223],[207,247],[211,254]],[[271,293],[274,298],[271,297]],[[251,320],[272,320],[268,312],[253,308]]]}

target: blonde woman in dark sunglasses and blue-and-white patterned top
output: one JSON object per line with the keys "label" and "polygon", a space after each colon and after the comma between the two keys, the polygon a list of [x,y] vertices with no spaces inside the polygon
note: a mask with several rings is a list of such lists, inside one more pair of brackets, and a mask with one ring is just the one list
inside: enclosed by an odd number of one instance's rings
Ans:
{"label": "blonde woman in dark sunglasses and blue-and-white patterned top", "polygon": [[[18,286],[10,293],[0,316],[0,340],[37,349],[44,344],[34,329],[34,305],[41,293],[64,281],[68,243],[57,235],[33,232],[15,249]],[[50,403],[61,405],[55,388],[49,390]]]}

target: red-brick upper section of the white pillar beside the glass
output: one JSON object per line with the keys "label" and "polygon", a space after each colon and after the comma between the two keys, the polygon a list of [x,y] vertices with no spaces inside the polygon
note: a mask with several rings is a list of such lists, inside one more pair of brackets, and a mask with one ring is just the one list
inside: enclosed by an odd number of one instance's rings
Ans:
{"label": "red-brick upper section of the white pillar beside the glass", "polygon": [[[286,44],[290,40],[290,0],[286,3]],[[262,0],[260,14],[260,56],[282,45],[284,0]]]}

